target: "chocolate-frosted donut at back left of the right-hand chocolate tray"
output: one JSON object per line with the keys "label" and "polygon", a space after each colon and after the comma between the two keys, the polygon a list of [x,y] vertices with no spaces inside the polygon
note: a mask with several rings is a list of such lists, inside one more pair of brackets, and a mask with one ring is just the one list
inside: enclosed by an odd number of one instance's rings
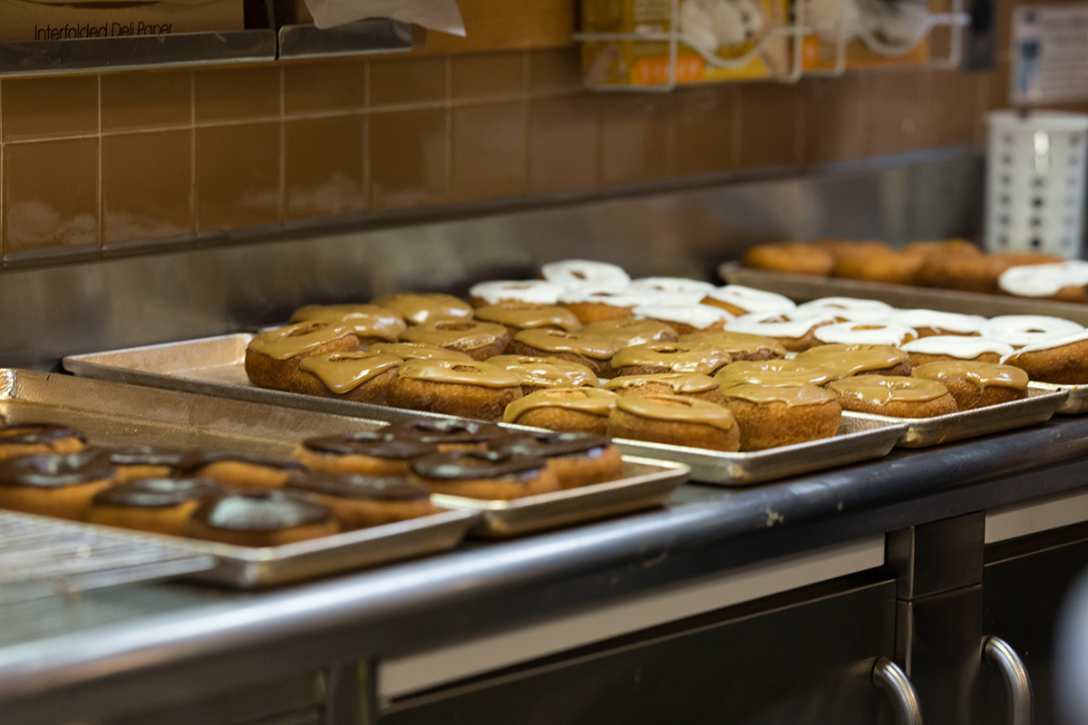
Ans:
{"label": "chocolate-frosted donut at back left of the right-hand chocolate tray", "polygon": [[310,438],[302,441],[293,455],[304,466],[319,473],[403,476],[413,459],[437,450],[432,442],[394,437],[386,429]]}

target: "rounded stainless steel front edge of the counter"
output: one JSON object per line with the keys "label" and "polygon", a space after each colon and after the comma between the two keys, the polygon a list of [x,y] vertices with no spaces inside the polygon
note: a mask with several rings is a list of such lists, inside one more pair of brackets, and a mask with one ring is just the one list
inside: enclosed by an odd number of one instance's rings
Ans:
{"label": "rounded stainless steel front edge of the counter", "polygon": [[1088,418],[1062,420],[742,491],[692,487],[693,502],[663,511],[42,634],[0,648],[0,703],[10,722],[58,722],[91,716],[91,702],[121,707],[109,703],[137,688],[148,707],[169,705],[180,696],[164,684],[178,673],[212,691],[251,684],[246,662],[274,677],[409,654],[783,553],[1078,488],[1085,480],[1074,463],[1085,458]]}

